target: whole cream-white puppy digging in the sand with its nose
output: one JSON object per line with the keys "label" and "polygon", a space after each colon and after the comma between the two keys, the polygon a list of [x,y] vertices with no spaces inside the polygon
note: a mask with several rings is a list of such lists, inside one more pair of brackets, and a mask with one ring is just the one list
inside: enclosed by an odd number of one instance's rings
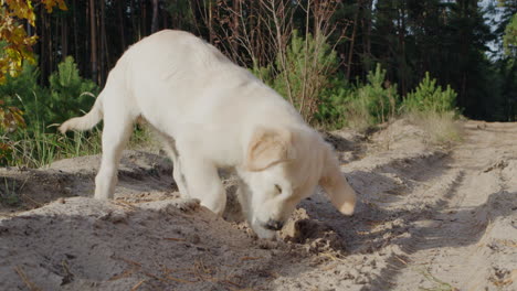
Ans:
{"label": "whole cream-white puppy digging in the sand with its nose", "polygon": [[226,204],[218,169],[233,168],[260,237],[272,238],[318,184],[341,213],[354,213],[356,194],[321,137],[277,93],[190,33],[166,30],[133,45],[92,110],[60,127],[86,130],[104,118],[96,198],[113,198],[120,153],[139,117],[163,137],[181,194],[214,213]]}

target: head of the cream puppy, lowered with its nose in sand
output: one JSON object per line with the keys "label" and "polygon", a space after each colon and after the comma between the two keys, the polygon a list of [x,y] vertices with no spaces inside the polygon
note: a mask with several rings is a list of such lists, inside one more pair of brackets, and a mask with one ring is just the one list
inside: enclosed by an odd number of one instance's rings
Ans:
{"label": "head of the cream puppy, lowered with its nose in sand", "polygon": [[331,148],[312,130],[256,128],[239,172],[242,206],[262,238],[273,238],[318,184],[341,213],[354,213],[356,193],[341,175]]}

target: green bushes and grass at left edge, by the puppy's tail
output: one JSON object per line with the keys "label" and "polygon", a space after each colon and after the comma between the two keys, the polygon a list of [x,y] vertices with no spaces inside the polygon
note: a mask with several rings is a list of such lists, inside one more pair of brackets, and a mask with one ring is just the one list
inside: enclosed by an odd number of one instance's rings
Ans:
{"label": "green bushes and grass at left edge, by the puppy's tail", "polygon": [[38,69],[24,64],[18,77],[8,76],[0,85],[2,99],[8,106],[20,108],[27,121],[27,127],[15,131],[0,128],[0,164],[39,168],[55,159],[98,153],[98,130],[68,138],[56,133],[53,127],[88,110],[97,86],[78,75],[72,57],[57,66],[49,88],[41,87],[38,78]]}

